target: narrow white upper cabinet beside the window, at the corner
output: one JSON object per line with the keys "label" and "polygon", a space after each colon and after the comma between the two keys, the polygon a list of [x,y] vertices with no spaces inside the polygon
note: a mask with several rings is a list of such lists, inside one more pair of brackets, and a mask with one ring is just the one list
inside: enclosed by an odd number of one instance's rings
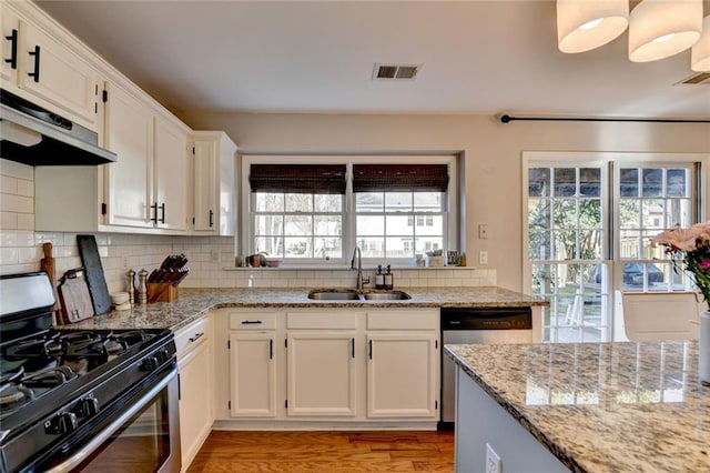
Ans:
{"label": "narrow white upper cabinet beside the window, at the corner", "polygon": [[221,131],[195,131],[193,138],[193,230],[234,235],[234,159],[236,144]]}

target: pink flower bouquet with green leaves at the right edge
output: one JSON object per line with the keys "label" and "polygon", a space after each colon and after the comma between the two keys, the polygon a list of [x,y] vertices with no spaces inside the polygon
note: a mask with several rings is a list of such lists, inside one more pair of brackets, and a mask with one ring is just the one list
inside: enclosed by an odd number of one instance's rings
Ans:
{"label": "pink flower bouquet with green leaves at the right edge", "polygon": [[653,236],[651,244],[666,246],[676,270],[680,266],[691,274],[710,309],[710,221],[689,229],[677,227]]}

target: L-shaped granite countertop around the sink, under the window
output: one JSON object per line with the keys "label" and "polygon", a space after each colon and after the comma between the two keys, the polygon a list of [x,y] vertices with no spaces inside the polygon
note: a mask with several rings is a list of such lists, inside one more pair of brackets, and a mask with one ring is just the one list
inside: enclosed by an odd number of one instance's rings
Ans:
{"label": "L-shaped granite countertop around the sink, under the window", "polygon": [[316,301],[307,298],[315,288],[181,289],[174,302],[134,305],[64,328],[71,329],[171,329],[176,331],[205,312],[224,308],[452,308],[547,305],[539,298],[500,288],[406,288],[412,299],[402,301]]}

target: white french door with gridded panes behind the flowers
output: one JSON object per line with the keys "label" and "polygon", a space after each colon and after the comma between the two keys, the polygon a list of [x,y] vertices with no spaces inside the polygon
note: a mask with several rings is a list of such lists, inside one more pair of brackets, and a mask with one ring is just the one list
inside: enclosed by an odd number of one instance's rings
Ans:
{"label": "white french door with gridded panes behind the flowers", "polygon": [[699,219],[698,163],[683,157],[525,153],[527,286],[542,340],[623,340],[620,292],[688,290],[650,238]]}

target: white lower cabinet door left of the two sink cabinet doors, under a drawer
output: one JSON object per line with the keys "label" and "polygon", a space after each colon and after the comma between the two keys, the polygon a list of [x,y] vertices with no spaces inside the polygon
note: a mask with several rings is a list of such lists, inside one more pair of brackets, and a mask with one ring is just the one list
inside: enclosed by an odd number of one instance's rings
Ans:
{"label": "white lower cabinet door left of the two sink cabinet doors, under a drawer", "polygon": [[274,333],[230,335],[231,415],[276,415],[276,366]]}

